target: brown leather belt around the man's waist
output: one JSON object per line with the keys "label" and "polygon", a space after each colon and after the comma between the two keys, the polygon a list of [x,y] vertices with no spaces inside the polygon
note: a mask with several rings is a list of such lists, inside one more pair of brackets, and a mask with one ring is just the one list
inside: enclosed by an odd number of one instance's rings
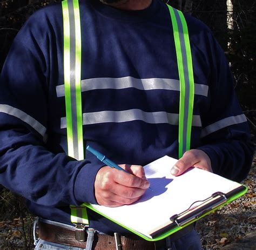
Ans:
{"label": "brown leather belt around the man's waist", "polygon": [[[74,247],[86,248],[86,241],[76,240],[76,228],[72,226],[64,227],[53,224],[48,224],[43,221],[38,221],[39,226],[39,238],[55,242],[58,244],[64,244]],[[185,227],[183,230],[174,233],[171,236],[171,240],[176,240],[182,235],[190,232],[193,225]],[[87,237],[86,237],[87,238]],[[122,250],[155,250],[159,248],[166,248],[166,241],[159,240],[156,242],[146,241],[144,239],[131,239],[124,236],[120,236],[120,243],[122,244]],[[108,249],[116,250],[116,240],[113,236],[107,234],[95,233],[92,249]]]}

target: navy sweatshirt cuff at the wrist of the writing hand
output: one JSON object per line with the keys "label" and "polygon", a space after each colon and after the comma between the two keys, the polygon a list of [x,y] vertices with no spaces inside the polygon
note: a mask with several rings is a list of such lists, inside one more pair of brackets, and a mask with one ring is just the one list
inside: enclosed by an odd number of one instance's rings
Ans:
{"label": "navy sweatshirt cuff at the wrist of the writing hand", "polygon": [[98,204],[95,198],[94,183],[95,178],[100,170],[105,166],[105,164],[85,164],[79,173],[75,181],[75,198],[79,203],[89,202],[91,204]]}

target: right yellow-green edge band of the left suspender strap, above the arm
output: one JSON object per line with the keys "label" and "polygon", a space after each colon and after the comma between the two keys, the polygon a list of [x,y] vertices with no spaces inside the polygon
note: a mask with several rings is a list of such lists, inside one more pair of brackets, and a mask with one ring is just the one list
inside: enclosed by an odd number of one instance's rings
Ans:
{"label": "right yellow-green edge band of the left suspender strap, above the arm", "polygon": [[80,27],[80,11],[78,0],[73,1],[75,27],[76,27],[76,103],[77,103],[77,137],[78,137],[78,160],[84,159],[83,141],[83,112],[82,112],[82,90],[81,90],[81,57],[82,57],[82,38]]}

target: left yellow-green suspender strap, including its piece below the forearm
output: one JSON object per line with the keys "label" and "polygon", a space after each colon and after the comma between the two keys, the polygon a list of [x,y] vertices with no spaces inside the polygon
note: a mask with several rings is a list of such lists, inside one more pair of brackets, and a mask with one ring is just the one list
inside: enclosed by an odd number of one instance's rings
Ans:
{"label": "left yellow-green suspender strap, including its piece below the forearm", "polygon": [[[81,99],[81,28],[78,0],[62,2],[64,35],[64,85],[68,155],[84,159]],[[89,225],[86,207],[70,206],[73,224]]]}

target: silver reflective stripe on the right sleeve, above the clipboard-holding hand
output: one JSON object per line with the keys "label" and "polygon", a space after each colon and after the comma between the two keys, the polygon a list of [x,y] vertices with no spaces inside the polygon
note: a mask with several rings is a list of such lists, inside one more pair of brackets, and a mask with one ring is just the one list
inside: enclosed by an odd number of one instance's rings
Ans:
{"label": "silver reflective stripe on the right sleeve, above the clipboard-holding hand", "polygon": [[247,119],[244,114],[239,114],[238,116],[231,116],[231,117],[227,117],[222,120],[216,121],[215,123],[208,125],[202,130],[201,138],[208,136],[208,134],[211,134],[215,131],[224,129],[224,127],[239,124],[239,123],[245,123],[246,121]]}

